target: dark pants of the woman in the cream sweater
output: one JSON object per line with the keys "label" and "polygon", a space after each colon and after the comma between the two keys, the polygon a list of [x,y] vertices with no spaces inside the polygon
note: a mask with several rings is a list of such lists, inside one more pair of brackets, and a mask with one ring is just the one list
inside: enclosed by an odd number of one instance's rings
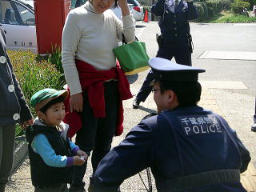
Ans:
{"label": "dark pants of the woman in the cream sweater", "polygon": [[[118,109],[118,82],[104,83],[106,118],[95,118],[86,93],[83,98],[82,129],[77,133],[75,144],[86,154],[93,151],[91,162],[94,174],[98,163],[110,151],[114,137]],[[86,164],[87,162],[83,166],[75,166],[72,186],[84,185],[82,179],[86,173]]]}

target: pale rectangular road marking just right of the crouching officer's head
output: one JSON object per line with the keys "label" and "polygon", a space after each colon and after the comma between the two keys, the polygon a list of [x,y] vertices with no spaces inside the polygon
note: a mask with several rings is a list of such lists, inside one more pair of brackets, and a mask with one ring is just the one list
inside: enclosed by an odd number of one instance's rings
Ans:
{"label": "pale rectangular road marking just right of the crouching officer's head", "polygon": [[242,82],[235,81],[199,81],[202,87],[220,90],[247,90]]}

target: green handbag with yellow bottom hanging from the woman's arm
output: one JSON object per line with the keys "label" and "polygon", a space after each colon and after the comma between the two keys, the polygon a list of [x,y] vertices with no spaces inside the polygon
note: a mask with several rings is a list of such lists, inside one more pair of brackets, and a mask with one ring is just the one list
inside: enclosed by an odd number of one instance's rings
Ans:
{"label": "green handbag with yellow bottom hanging from the woman's arm", "polygon": [[113,51],[125,74],[138,74],[150,67],[145,42],[134,41],[123,44],[114,48]]}

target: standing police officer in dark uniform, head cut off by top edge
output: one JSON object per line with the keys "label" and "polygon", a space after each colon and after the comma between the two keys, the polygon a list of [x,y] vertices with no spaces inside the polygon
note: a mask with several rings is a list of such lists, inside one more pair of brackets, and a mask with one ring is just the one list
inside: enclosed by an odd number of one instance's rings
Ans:
{"label": "standing police officer in dark uniform, head cut off by top edge", "polygon": [[[189,20],[198,18],[193,1],[158,0],[151,11],[161,16],[158,25],[162,35],[157,39],[159,50],[156,57],[170,60],[174,57],[178,64],[191,66],[192,38]],[[150,94],[152,80],[153,74],[150,71],[134,100],[134,109],[138,108],[140,102],[145,102]]]}

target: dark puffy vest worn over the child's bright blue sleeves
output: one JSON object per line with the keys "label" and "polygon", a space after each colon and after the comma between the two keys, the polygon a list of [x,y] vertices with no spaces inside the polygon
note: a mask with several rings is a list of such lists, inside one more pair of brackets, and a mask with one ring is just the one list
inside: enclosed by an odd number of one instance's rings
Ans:
{"label": "dark puffy vest worn over the child's bright blue sleeves", "polygon": [[[26,141],[29,142],[30,172],[33,186],[44,188],[58,183],[70,183],[74,175],[73,166],[47,166],[39,154],[34,153],[31,142],[37,134],[44,134],[57,155],[71,155],[70,143],[65,142],[54,127],[30,126],[26,130]],[[66,140],[68,141],[68,140]]]}

